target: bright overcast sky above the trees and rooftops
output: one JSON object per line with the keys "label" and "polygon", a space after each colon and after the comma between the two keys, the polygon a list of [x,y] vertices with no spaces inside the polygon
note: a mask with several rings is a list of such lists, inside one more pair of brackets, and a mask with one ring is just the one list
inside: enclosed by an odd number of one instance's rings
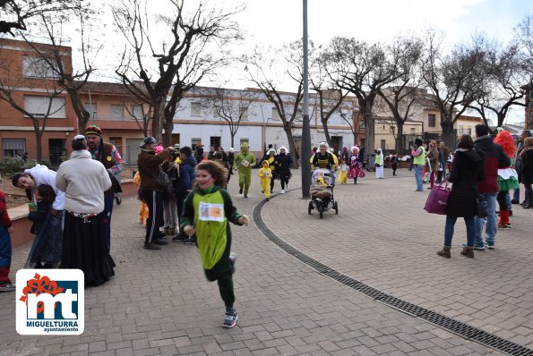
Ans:
{"label": "bright overcast sky above the trees and rooftops", "polygon": [[[148,3],[156,11],[159,4],[168,4],[167,0]],[[185,8],[196,3],[186,0]],[[241,50],[258,44],[281,47],[302,37],[302,0],[211,0],[211,4],[227,9],[245,4],[245,11],[236,15],[245,34]],[[447,43],[452,45],[468,41],[476,31],[503,43],[509,41],[512,28],[526,14],[533,13],[533,4],[531,0],[308,0],[308,12],[309,37],[316,44],[325,45],[334,36],[386,41],[399,33],[419,32],[431,26],[443,30]],[[121,40],[116,36],[108,43]],[[233,82],[228,86],[232,88],[250,85],[240,80],[238,72],[231,78]]]}

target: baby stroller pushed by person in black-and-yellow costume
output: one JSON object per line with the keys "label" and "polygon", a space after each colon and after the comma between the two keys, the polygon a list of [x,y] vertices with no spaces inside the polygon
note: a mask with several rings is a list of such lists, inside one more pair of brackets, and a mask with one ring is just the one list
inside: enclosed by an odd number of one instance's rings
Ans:
{"label": "baby stroller pushed by person in black-and-yellow costume", "polygon": [[307,207],[307,213],[316,209],[322,219],[323,212],[330,208],[335,209],[335,214],[339,214],[337,201],[333,197],[333,178],[329,169],[315,169],[311,176],[311,200]]}

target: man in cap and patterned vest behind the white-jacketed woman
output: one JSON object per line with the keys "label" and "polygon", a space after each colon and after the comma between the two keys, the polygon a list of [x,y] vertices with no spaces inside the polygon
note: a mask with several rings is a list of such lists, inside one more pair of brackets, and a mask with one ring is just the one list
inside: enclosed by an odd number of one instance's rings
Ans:
{"label": "man in cap and patterned vest behind the white-jacketed woman", "polygon": [[87,150],[90,152],[92,159],[101,162],[107,169],[109,178],[113,183],[104,195],[106,208],[102,212],[103,222],[106,234],[107,253],[111,250],[111,215],[113,214],[113,200],[115,193],[122,192],[120,188],[120,174],[124,169],[124,161],[115,145],[102,140],[102,129],[97,125],[90,125],[85,129],[87,139]]}

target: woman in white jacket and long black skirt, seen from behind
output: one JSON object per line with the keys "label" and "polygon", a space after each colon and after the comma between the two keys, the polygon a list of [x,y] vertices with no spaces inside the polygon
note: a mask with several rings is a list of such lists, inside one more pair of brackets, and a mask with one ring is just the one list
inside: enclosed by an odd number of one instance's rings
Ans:
{"label": "woman in white jacket and long black skirt, seen from behind", "polygon": [[79,268],[86,286],[104,284],[115,275],[107,252],[102,213],[104,191],[111,187],[106,167],[93,160],[82,135],[74,137],[73,153],[56,174],[56,187],[65,192],[61,268]]}

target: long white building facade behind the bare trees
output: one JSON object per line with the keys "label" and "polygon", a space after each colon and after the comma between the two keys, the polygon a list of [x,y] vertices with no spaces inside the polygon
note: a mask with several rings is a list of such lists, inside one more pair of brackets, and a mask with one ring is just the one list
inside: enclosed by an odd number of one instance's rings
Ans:
{"label": "long white building facade behind the bare trees", "polygon": [[[221,105],[220,102],[214,101],[210,97],[210,89],[196,89],[189,92],[181,100],[176,111],[173,134],[179,134],[180,145],[194,147],[196,144],[202,143],[208,150],[211,146],[215,146],[225,150],[234,147],[238,151],[241,143],[248,142],[250,150],[256,154],[262,154],[264,148],[269,144],[272,144],[274,148],[280,146],[288,148],[287,134],[283,130],[283,123],[279,118],[278,110],[260,91],[257,89],[223,90],[224,100],[233,101],[236,106],[242,106],[245,112],[242,114],[238,130],[236,130],[233,144],[230,124],[220,117],[215,110],[217,105]],[[294,94],[282,93],[282,95],[287,112],[292,113]],[[248,98],[249,106],[247,102],[245,105],[243,97]],[[313,102],[313,98],[311,101]],[[325,134],[318,108],[311,105],[309,112],[311,113],[311,140],[314,145],[317,145],[318,142],[325,140]],[[238,110],[236,110],[233,122],[236,123],[237,120]],[[347,121],[339,113],[331,115],[328,127],[336,150],[354,145],[353,125],[351,119]],[[298,110],[292,133],[297,149],[299,149],[302,137],[301,110]]]}

